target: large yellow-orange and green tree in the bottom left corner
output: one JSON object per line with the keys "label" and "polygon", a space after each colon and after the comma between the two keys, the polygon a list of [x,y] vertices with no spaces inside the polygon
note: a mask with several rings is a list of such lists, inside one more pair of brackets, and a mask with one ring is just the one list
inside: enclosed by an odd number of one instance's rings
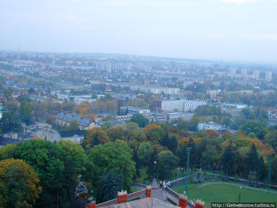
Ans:
{"label": "large yellow-orange and green tree in the bottom left corner", "polygon": [[0,161],[0,207],[32,207],[41,192],[34,169],[22,160]]}

